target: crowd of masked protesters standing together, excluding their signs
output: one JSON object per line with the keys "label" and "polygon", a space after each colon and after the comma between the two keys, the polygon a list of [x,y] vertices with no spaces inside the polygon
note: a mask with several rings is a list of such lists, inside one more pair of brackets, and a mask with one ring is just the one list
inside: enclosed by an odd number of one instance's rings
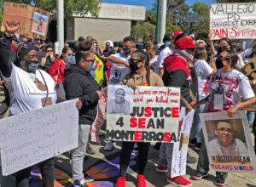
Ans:
{"label": "crowd of masked protesters standing together, excluding their signs", "polygon": [[[188,163],[197,161],[192,179],[206,178],[209,171],[207,147],[204,142],[200,113],[228,111],[234,116],[237,110],[251,108],[255,110],[256,99],[254,85],[241,72],[242,65],[256,56],[256,44],[252,42],[240,53],[229,38],[222,38],[215,48],[211,39],[209,44],[201,39],[195,40],[182,31],[166,34],[164,45],[158,48],[147,41],[143,48],[136,48],[134,37],[125,37],[123,46],[115,50],[113,42],[105,42],[102,50],[95,38],[79,37],[75,48],[65,43],[60,56],[55,55],[52,45],[44,41],[33,42],[24,37],[18,42],[14,32],[19,24],[6,23],[6,31],[0,42],[1,84],[5,100],[0,107],[0,115],[10,108],[10,114],[18,115],[47,105],[60,102],[57,89],[62,85],[66,99],[76,99],[79,109],[79,146],[70,151],[73,186],[85,187],[93,181],[84,175],[84,156],[94,155],[90,148],[90,127],[96,120],[98,100],[108,85],[126,85],[132,89],[137,86],[177,87],[181,89],[181,106],[189,112],[195,109],[191,127],[189,146],[199,151],[198,161],[187,156]],[[229,88],[225,88],[225,87]],[[105,92],[106,93],[106,92]],[[214,105],[215,94],[224,98],[222,108]],[[125,107],[119,105],[119,111]],[[250,111],[251,112],[251,111]],[[248,121],[252,125],[252,112]],[[108,126],[108,124],[107,124]],[[256,133],[256,127],[253,133]],[[115,142],[107,139],[105,151],[113,150]],[[125,187],[126,171],[131,152],[138,151],[137,186],[145,187],[144,170],[148,162],[150,143],[122,142],[119,156],[119,178],[117,187]],[[159,150],[157,173],[166,173],[168,183],[177,186],[191,186],[183,176],[171,177],[172,143],[157,143]],[[41,169],[43,186],[54,186],[54,158],[38,163]],[[29,185],[31,167],[15,173],[15,183],[19,187]],[[227,173],[217,172],[215,184],[225,185]],[[2,184],[3,185],[3,184]],[[3,185],[4,186],[4,185]]]}

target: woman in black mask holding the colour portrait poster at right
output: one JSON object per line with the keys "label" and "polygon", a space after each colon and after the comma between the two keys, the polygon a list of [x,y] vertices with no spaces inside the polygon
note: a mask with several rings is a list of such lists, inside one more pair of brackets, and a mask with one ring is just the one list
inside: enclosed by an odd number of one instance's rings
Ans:
{"label": "woman in black mask holding the colour portrait poster at right", "polygon": [[[231,50],[224,50],[218,56],[219,62],[222,64],[221,69],[214,72],[209,83],[208,93],[206,99],[202,99],[197,105],[208,104],[207,112],[228,111],[229,116],[242,109],[244,106],[255,102],[253,89],[251,88],[248,78],[241,72],[236,71],[236,63],[238,56],[236,52]],[[215,101],[217,94],[222,94],[222,99]],[[242,99],[242,100],[241,100]],[[216,106],[214,103],[223,103],[222,106]],[[209,161],[207,157],[206,144],[202,143],[201,151],[197,164],[197,171],[192,178],[199,180],[207,177],[209,171]],[[228,173],[217,172],[215,184],[217,186],[225,185],[225,178]]]}

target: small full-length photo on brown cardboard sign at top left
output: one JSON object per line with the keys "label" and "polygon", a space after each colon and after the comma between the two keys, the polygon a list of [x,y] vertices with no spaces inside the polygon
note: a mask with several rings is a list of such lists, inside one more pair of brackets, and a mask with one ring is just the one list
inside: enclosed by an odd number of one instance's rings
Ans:
{"label": "small full-length photo on brown cardboard sign at top left", "polygon": [[32,32],[45,36],[47,33],[47,23],[48,17],[46,15],[34,12]]}

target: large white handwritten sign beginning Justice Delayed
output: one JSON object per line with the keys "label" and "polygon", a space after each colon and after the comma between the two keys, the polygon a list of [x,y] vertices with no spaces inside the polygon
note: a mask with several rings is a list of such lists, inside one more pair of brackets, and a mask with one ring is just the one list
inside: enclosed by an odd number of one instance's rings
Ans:
{"label": "large white handwritten sign beginning Justice Delayed", "polygon": [[3,175],[15,173],[78,146],[77,99],[0,120]]}

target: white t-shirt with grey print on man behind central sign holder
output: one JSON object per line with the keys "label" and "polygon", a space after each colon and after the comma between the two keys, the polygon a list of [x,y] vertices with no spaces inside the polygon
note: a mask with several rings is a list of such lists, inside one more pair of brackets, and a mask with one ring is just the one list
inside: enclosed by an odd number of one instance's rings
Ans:
{"label": "white t-shirt with grey print on man behind central sign holder", "polygon": [[[131,55],[126,56],[124,53],[119,54],[112,54],[116,58],[122,59],[127,63],[130,63]],[[126,67],[125,65],[118,66],[115,65],[113,62],[109,62],[111,65],[111,72],[109,77],[109,84],[121,84],[125,76],[129,73],[130,68]]]}

